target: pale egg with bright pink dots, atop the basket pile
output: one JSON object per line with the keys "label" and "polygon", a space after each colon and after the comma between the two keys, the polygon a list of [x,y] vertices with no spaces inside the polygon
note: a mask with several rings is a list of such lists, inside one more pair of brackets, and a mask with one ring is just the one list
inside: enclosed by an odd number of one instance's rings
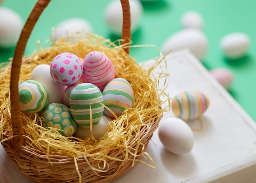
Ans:
{"label": "pale egg with bright pink dots, atop the basket pile", "polygon": [[78,56],[65,52],[58,54],[52,60],[50,73],[56,83],[69,86],[81,78],[83,65]]}

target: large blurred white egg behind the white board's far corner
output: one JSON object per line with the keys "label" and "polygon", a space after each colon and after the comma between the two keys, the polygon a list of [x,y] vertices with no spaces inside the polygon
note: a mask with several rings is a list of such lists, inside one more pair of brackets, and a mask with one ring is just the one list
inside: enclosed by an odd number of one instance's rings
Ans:
{"label": "large blurred white egg behind the white board's far corner", "polygon": [[190,49],[192,54],[202,60],[208,49],[207,36],[199,29],[183,29],[167,38],[162,46],[163,54],[181,49]]}

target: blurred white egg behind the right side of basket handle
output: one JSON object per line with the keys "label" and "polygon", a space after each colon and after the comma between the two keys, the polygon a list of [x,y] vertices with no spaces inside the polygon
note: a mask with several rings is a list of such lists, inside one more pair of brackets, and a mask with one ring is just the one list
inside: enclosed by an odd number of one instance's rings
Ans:
{"label": "blurred white egg behind the right side of basket handle", "polygon": [[[143,13],[143,7],[139,0],[129,0],[131,14],[131,32],[139,28],[139,23]],[[113,0],[108,4],[105,11],[105,20],[113,34],[121,35],[123,25],[123,11],[120,0]]]}

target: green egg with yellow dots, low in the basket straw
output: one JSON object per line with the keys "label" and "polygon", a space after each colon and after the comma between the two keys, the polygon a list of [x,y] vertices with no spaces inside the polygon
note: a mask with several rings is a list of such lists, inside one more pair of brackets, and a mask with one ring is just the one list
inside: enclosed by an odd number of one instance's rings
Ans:
{"label": "green egg with yellow dots, low in the basket straw", "polygon": [[72,117],[70,108],[61,103],[52,103],[42,112],[43,127],[54,127],[66,137],[72,136],[77,129],[76,121]]}

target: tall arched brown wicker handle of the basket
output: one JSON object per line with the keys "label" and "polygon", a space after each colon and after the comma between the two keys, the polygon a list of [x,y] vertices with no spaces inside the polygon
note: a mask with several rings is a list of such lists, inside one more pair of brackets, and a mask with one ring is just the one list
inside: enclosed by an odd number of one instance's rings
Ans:
{"label": "tall arched brown wicker handle of the basket", "polygon": [[[129,44],[131,38],[130,31],[130,5],[128,0],[120,0],[123,9],[123,29],[122,29],[122,42],[121,44]],[[34,9],[31,11],[27,22],[25,23],[20,38],[17,42],[13,61],[11,66],[11,80],[10,80],[10,100],[11,100],[11,124],[13,130],[13,138],[10,142],[11,152],[15,153],[24,142],[22,119],[20,114],[20,100],[18,92],[18,82],[20,75],[20,66],[22,57],[25,52],[25,47],[29,36],[40,17],[43,10],[47,7],[50,0],[38,0]],[[129,48],[124,49],[129,54]],[[16,136],[17,135],[17,136]]]}

